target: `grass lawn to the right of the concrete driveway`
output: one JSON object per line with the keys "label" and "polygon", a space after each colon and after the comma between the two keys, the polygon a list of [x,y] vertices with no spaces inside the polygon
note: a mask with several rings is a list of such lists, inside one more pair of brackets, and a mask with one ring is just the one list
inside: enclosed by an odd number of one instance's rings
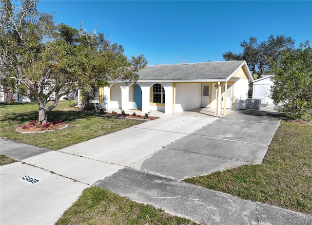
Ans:
{"label": "grass lawn to the right of the concrete driveway", "polygon": [[184,181],[312,214],[312,126],[281,121],[262,164]]}

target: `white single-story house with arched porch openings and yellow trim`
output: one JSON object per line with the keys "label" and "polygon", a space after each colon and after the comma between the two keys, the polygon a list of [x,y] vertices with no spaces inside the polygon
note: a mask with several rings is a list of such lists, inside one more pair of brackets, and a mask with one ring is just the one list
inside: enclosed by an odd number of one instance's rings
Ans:
{"label": "white single-story house with arched porch openings and yellow trim", "polygon": [[152,65],[139,71],[136,83],[115,80],[99,88],[106,109],[140,109],[175,114],[209,108],[215,116],[239,109],[253,81],[245,61]]}

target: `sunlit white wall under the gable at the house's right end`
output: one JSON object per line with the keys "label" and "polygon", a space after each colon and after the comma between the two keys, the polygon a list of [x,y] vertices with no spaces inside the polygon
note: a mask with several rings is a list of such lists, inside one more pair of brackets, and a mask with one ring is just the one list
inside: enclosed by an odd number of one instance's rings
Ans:
{"label": "sunlit white wall under the gable at the house's right end", "polygon": [[234,82],[233,85],[233,109],[239,110],[240,102],[247,99],[248,95],[248,79],[232,77],[229,82]]}

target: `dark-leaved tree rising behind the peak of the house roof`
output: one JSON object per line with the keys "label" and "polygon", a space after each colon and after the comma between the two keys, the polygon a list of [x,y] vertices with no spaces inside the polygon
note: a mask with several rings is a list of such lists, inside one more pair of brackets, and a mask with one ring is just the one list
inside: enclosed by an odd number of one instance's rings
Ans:
{"label": "dark-leaved tree rising behind the peak of the house roof", "polygon": [[231,51],[223,54],[225,60],[245,60],[249,70],[253,74],[271,74],[272,63],[277,63],[281,59],[281,54],[285,49],[293,49],[294,40],[291,37],[278,35],[276,38],[270,35],[267,41],[257,42],[257,38],[250,37],[249,41],[240,42],[243,48],[242,53]]}

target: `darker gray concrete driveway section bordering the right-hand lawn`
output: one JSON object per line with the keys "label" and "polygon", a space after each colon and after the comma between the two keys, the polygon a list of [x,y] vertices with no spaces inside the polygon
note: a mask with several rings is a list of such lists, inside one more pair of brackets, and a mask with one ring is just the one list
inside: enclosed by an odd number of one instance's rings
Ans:
{"label": "darker gray concrete driveway section bordering the right-hand lawn", "polygon": [[259,164],[279,122],[280,116],[275,112],[231,111],[131,167],[182,180],[244,164]]}

